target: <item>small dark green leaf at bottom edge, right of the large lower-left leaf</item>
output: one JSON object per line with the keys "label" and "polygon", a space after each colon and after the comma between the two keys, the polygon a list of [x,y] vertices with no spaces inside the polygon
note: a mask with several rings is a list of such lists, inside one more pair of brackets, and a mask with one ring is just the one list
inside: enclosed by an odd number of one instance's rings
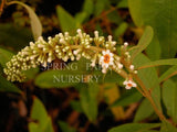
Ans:
{"label": "small dark green leaf at bottom edge, right of the large lower-left leaf", "polygon": [[76,130],[71,128],[66,122],[59,121],[59,125],[62,132],[76,132]]}

